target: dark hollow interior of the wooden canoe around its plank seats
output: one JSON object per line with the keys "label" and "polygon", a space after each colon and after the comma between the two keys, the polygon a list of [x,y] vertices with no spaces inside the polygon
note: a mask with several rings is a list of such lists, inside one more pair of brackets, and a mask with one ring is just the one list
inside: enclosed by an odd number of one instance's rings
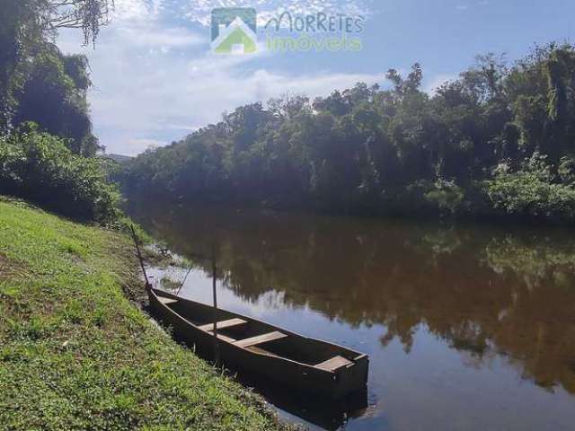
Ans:
{"label": "dark hollow interior of the wooden canoe around its plank seats", "polygon": [[[163,291],[155,290],[155,295],[165,298],[176,298]],[[336,346],[317,339],[306,339],[287,330],[233,312],[226,312],[225,310],[219,309],[214,310],[213,307],[202,303],[177,298],[175,303],[168,302],[164,303],[164,305],[197,327],[208,324],[213,325],[214,321],[230,321],[238,318],[245,321],[245,323],[242,324],[235,324],[217,330],[218,336],[232,343],[273,332],[281,332],[286,335],[286,337],[280,339],[271,339],[270,341],[259,343],[256,346],[245,347],[253,353],[280,356],[304,365],[316,366],[328,364],[328,367],[332,363],[334,366],[344,366],[346,360],[349,361],[349,363],[353,363],[361,356],[364,356],[348,348]],[[333,358],[337,356],[341,356],[341,359],[339,361],[333,361]]]}

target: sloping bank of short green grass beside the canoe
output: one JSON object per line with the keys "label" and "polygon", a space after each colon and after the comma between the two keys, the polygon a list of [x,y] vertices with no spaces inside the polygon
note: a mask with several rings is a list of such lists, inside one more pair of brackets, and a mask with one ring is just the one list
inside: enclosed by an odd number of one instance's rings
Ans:
{"label": "sloping bank of short green grass beside the canoe", "polygon": [[0,429],[279,426],[133,306],[127,236],[0,201]]}

